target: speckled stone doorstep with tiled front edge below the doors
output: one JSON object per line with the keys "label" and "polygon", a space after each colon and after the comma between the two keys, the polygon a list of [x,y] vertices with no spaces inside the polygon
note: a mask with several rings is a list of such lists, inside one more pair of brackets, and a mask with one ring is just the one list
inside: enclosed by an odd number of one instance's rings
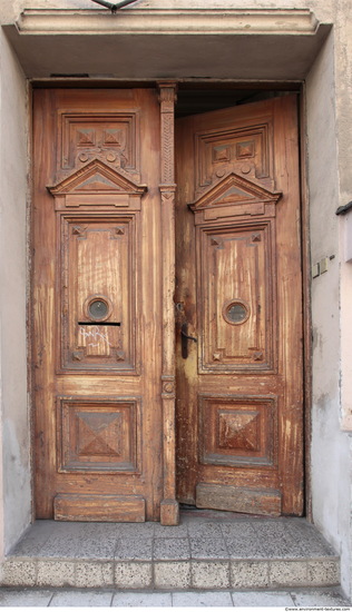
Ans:
{"label": "speckled stone doorstep with tiled front edge below the doors", "polygon": [[2,585],[227,590],[340,584],[340,560],[304,519],[184,512],[180,524],[37,521]]}

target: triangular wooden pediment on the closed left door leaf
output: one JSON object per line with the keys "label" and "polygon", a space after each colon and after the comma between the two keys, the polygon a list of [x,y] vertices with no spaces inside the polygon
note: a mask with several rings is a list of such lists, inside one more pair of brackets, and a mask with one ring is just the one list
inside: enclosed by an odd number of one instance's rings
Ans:
{"label": "triangular wooden pediment on the closed left door leaf", "polygon": [[97,193],[143,195],[147,190],[147,186],[136,185],[100,159],[92,159],[58,185],[48,187],[48,190],[53,196]]}

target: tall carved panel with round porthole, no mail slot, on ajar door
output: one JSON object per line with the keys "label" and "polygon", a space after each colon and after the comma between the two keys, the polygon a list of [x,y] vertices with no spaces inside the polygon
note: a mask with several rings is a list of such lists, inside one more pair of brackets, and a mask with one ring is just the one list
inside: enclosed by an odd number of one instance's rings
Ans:
{"label": "tall carved panel with round porthole, no mail slot, on ajar door", "polygon": [[276,344],[272,221],[198,231],[199,369],[272,371]]}

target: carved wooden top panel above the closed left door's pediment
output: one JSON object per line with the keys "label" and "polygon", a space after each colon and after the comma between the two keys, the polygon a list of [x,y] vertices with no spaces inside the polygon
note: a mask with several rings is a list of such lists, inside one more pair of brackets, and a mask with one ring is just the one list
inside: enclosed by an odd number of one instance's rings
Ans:
{"label": "carved wooden top panel above the closed left door's pediment", "polygon": [[138,112],[59,111],[59,168],[79,168],[94,158],[139,180]]}

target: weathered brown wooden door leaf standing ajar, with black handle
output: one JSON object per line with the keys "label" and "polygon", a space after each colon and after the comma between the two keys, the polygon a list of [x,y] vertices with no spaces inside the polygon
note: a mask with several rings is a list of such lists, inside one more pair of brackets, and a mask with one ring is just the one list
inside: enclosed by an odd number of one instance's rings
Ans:
{"label": "weathered brown wooden door leaf standing ajar, with black handle", "polygon": [[180,119],[176,154],[177,320],[197,338],[186,359],[177,346],[179,500],[300,515],[295,96]]}

